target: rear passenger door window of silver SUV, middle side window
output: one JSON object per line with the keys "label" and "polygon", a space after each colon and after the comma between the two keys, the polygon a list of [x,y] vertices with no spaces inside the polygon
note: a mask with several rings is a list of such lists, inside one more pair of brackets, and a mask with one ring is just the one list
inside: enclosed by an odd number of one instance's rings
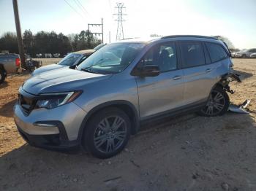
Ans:
{"label": "rear passenger door window of silver SUV, middle side window", "polygon": [[184,68],[202,66],[206,63],[200,42],[181,42],[181,54]]}

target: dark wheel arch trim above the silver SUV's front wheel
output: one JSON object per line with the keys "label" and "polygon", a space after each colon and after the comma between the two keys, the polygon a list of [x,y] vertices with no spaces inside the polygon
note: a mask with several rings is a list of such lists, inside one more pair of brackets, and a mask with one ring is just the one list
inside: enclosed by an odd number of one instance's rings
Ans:
{"label": "dark wheel arch trim above the silver SUV's front wheel", "polygon": [[124,111],[132,123],[132,131],[131,133],[134,135],[138,132],[140,128],[140,116],[138,114],[137,109],[135,106],[130,103],[129,101],[124,100],[118,100],[118,101],[108,101],[103,104],[99,104],[98,106],[95,106],[93,109],[91,109],[88,114],[86,114],[86,117],[84,117],[82,124],[80,125],[79,131],[78,131],[78,140],[81,141],[83,138],[83,132],[86,130],[86,124],[89,122],[91,117],[94,116],[94,114],[97,114],[102,109],[106,109],[109,107],[116,107],[118,109],[121,109]]}

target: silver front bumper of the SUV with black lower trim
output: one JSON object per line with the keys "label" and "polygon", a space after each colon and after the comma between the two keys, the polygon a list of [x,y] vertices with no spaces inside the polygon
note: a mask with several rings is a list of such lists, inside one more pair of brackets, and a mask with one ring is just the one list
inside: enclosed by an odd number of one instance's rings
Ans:
{"label": "silver front bumper of the SUV with black lower trim", "polygon": [[23,113],[19,104],[14,106],[14,120],[20,135],[29,144],[47,149],[76,147],[78,132],[86,112],[74,103],[55,109],[34,109]]}

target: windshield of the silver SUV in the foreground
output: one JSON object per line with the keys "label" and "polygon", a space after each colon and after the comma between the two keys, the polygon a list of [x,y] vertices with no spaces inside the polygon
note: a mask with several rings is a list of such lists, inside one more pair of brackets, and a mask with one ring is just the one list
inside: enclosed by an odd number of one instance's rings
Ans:
{"label": "windshield of the silver SUV in the foreground", "polygon": [[78,70],[98,74],[115,74],[123,71],[143,49],[143,43],[106,44],[80,63]]}

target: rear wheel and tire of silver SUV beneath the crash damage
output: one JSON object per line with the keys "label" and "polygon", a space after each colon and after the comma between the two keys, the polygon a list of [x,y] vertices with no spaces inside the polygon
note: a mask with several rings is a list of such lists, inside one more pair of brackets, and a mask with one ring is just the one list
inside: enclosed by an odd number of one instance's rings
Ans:
{"label": "rear wheel and tire of silver SUV beneath the crash damage", "polygon": [[221,116],[227,112],[230,106],[230,98],[222,87],[215,87],[211,91],[206,107],[198,112],[199,115],[205,117]]}

